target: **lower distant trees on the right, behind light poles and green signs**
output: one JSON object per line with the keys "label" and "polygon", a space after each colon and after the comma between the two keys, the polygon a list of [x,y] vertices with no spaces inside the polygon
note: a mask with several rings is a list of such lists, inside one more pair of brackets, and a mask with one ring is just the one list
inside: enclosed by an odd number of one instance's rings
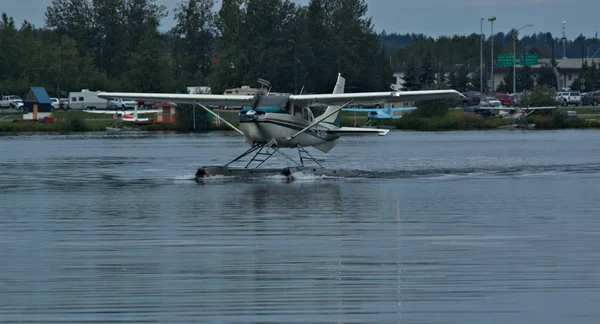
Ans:
{"label": "lower distant trees on the right, behind light poles and green signs", "polygon": [[[505,68],[504,79],[500,84],[496,84],[494,89],[489,85],[492,60],[491,39],[484,40],[483,47],[481,47],[482,40],[478,34],[441,36],[437,39],[423,38],[414,34],[383,36],[388,44],[394,39],[406,42],[405,45],[392,52],[390,60],[394,62],[394,69],[404,71],[404,87],[408,90],[419,90],[433,85],[439,88],[441,84],[461,92],[479,91],[481,88],[485,92],[513,92],[512,68]],[[536,84],[557,88],[555,72],[561,69],[555,59],[559,55],[555,50],[558,44],[544,41],[546,38],[551,40],[551,34],[540,33],[519,39],[517,31],[514,29],[506,35],[499,33],[494,37],[493,53],[496,67],[498,55],[512,55],[513,51],[516,52],[517,58],[520,55],[536,54],[540,60],[545,60],[545,64],[541,64],[537,69],[528,66],[517,69],[516,90],[518,92],[531,90]],[[528,42],[533,45],[528,46]],[[580,36],[574,41],[566,43],[580,49],[600,49],[600,41],[595,38],[586,39]],[[483,87],[480,87],[480,48],[483,49]],[[586,62],[585,58],[582,58],[582,62]],[[573,83],[572,88],[577,90],[600,89],[599,70],[600,66],[596,63],[584,64],[581,74]]]}

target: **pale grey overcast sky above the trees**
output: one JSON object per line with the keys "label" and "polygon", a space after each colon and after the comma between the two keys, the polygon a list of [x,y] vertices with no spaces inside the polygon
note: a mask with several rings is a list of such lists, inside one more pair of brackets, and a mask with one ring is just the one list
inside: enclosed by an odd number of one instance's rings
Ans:
{"label": "pale grey overcast sky above the trees", "polygon": [[[293,0],[306,5],[309,0]],[[162,30],[171,28],[173,8],[180,0],[157,0],[169,9]],[[36,26],[44,25],[44,13],[52,0],[0,0],[0,10],[6,11],[20,26],[27,20]],[[600,0],[367,0],[368,15],[375,30],[388,33],[423,33],[428,36],[478,33],[480,18],[486,18],[483,31],[490,34],[487,18],[496,16],[494,32],[508,32],[532,24],[522,33],[562,33],[567,22],[567,37],[579,34],[594,37],[600,30]],[[216,1],[215,9],[221,7]]]}

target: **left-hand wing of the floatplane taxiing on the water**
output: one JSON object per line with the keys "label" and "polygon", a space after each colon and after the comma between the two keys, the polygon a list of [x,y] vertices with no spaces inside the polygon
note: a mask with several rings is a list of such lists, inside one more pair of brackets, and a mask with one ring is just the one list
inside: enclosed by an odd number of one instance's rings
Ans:
{"label": "left-hand wing of the floatplane taxiing on the water", "polygon": [[[182,93],[134,93],[134,92],[100,92],[98,97],[133,98],[144,100],[168,101],[182,104],[200,102],[207,106],[243,106],[252,103],[254,96],[241,95],[212,95],[212,94],[182,94]],[[139,111],[138,111],[139,114]]]}

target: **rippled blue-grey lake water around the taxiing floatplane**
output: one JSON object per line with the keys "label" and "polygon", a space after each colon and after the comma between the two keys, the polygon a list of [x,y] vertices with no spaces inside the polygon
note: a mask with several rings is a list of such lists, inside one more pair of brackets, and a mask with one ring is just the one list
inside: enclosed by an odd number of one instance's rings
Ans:
{"label": "rippled blue-grey lake water around the taxiing floatplane", "polygon": [[600,132],[347,137],[192,181],[237,136],[0,137],[0,323],[597,323]]}

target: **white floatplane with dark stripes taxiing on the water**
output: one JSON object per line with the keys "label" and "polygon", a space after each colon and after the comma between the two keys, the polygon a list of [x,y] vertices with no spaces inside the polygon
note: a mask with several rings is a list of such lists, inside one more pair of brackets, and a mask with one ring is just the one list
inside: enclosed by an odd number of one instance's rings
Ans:
{"label": "white floatplane with dark stripes taxiing on the water", "polygon": [[[310,160],[322,166],[305,150],[314,147],[322,152],[329,152],[338,144],[339,138],[345,134],[377,134],[386,135],[389,130],[373,128],[355,128],[340,126],[340,111],[350,104],[369,102],[395,103],[415,100],[458,98],[456,90],[426,90],[426,91],[387,91],[344,93],[345,79],[338,75],[333,93],[331,94],[262,94],[254,96],[213,95],[213,94],[169,94],[169,93],[119,93],[101,92],[100,98],[134,98],[146,100],[161,100],[181,104],[197,105],[208,113],[219,118],[232,129],[245,136],[251,148],[222,167],[201,168],[197,177],[216,174],[232,174],[229,165],[241,158],[254,153],[250,162],[242,170],[258,168],[280,148],[298,149],[300,163],[292,160],[296,166],[304,167],[304,160]],[[309,105],[327,105],[325,112],[314,117]],[[211,111],[207,106],[243,106],[240,110],[240,128],[236,128]],[[280,152],[282,153],[282,152]],[[285,155],[285,154],[284,154]],[[285,155],[287,157],[287,155]],[[289,158],[289,157],[288,157]],[[289,172],[289,169],[288,171]],[[283,173],[286,171],[284,169]]]}

